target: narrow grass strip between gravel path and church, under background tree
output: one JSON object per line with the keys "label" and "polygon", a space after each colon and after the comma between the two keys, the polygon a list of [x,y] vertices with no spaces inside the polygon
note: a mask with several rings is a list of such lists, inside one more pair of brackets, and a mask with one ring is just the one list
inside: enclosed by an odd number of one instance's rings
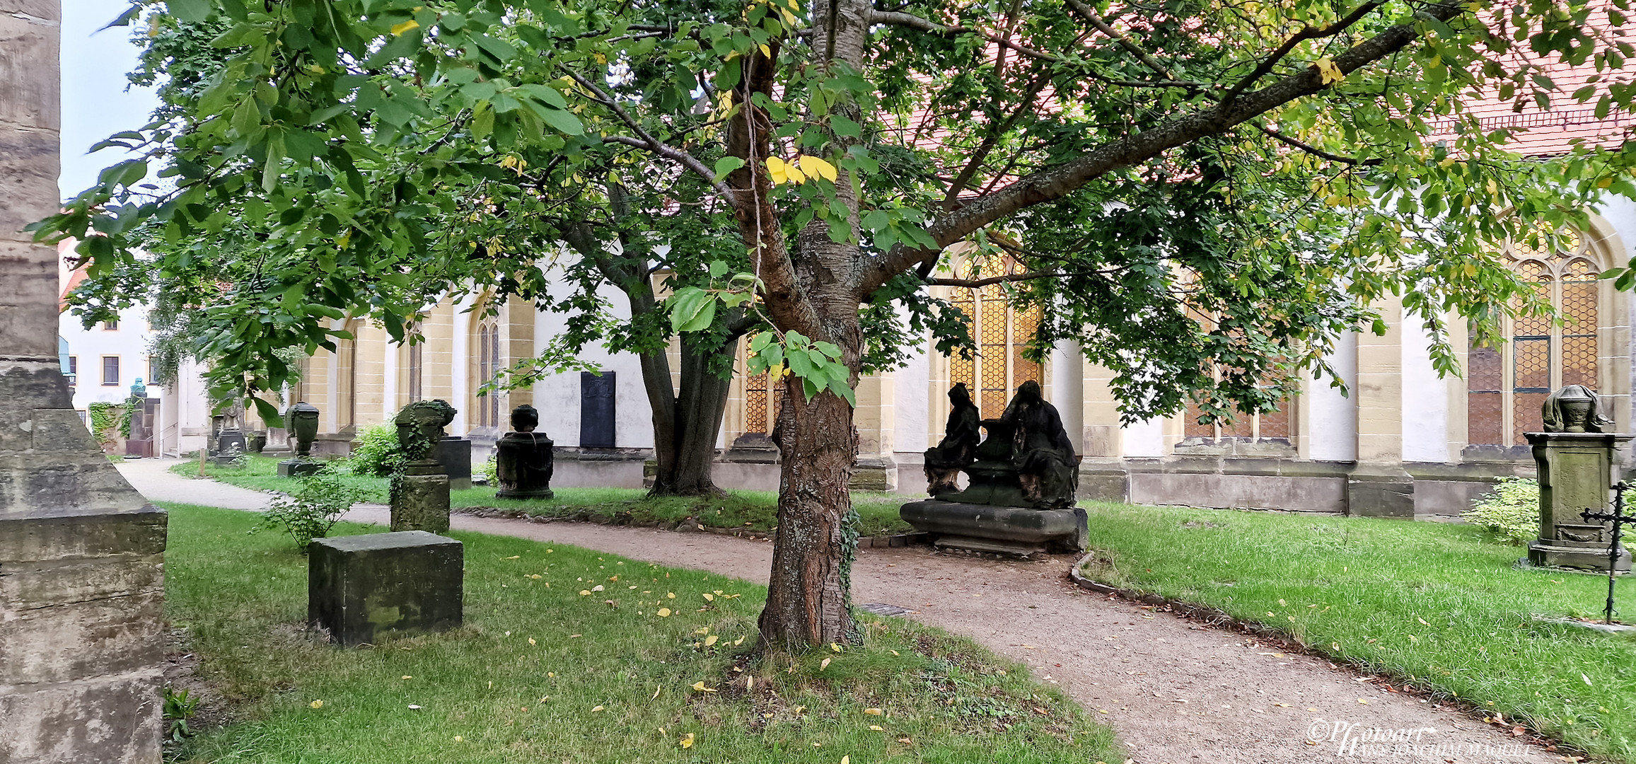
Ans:
{"label": "narrow grass strip between gravel path and church, under background tree", "polygon": [[[183,476],[198,476],[198,463],[188,461],[175,465],[170,471]],[[250,455],[242,468],[208,465],[204,474],[234,486],[257,491],[285,491],[291,488],[291,478],[278,476],[278,460]],[[368,496],[366,501],[386,502],[386,478],[344,476],[342,481]],[[496,499],[494,488],[473,486],[465,491],[450,491],[452,507],[497,507],[519,509],[530,515],[609,519],[635,524],[677,524],[685,517],[695,517],[705,525],[720,528],[769,530],[777,525],[779,494],[774,491],[728,491],[726,497],[648,497],[648,492],[635,488],[558,488],[551,499]],[[908,501],[905,496],[887,492],[854,491],[852,507],[859,517],[859,533],[865,537],[903,533],[911,530],[898,517],[898,507]]]}

